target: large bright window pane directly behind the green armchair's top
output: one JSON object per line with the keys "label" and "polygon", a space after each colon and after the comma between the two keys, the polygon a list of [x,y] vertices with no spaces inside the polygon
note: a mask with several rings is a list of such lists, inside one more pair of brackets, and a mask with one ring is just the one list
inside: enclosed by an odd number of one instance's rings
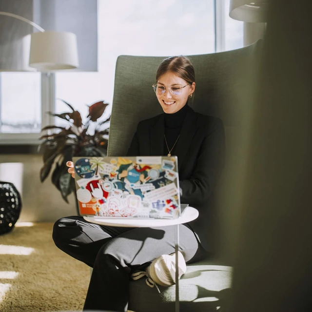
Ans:
{"label": "large bright window pane directly behind the green armchair's top", "polygon": [[[174,14],[174,19],[173,19]],[[86,116],[85,104],[113,101],[119,55],[170,56],[215,52],[214,0],[101,0],[98,73],[56,73],[56,98]],[[56,101],[56,112],[65,104]],[[58,121],[58,122],[61,122]]]}

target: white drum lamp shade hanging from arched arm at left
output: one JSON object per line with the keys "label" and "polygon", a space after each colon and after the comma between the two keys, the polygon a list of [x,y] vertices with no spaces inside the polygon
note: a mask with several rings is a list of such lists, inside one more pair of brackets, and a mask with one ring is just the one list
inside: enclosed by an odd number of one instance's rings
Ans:
{"label": "white drum lamp shade hanging from arched arm at left", "polygon": [[39,71],[77,68],[77,38],[73,33],[45,31],[31,34],[29,66]]}

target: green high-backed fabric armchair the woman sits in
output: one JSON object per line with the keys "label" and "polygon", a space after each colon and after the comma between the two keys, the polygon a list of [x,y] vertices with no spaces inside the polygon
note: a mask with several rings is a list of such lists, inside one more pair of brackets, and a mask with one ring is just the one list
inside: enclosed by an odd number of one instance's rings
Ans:
{"label": "green high-backed fabric armchair the woman sits in", "polygon": [[[196,90],[189,105],[195,111],[220,117],[225,125],[226,145],[231,145],[244,106],[239,92],[244,90],[241,66],[253,68],[261,41],[228,52],[190,56],[196,74]],[[116,64],[114,99],[109,134],[108,156],[126,155],[137,123],[162,112],[152,84],[163,57],[119,56]],[[245,90],[248,92],[248,90]],[[200,216],[199,216],[200,217]],[[224,311],[231,287],[231,267],[226,251],[231,239],[226,225],[228,212],[219,204],[209,221],[212,256],[187,266],[179,282],[180,311]],[[130,282],[128,309],[135,312],[174,311],[175,285],[155,288],[145,279]]]}

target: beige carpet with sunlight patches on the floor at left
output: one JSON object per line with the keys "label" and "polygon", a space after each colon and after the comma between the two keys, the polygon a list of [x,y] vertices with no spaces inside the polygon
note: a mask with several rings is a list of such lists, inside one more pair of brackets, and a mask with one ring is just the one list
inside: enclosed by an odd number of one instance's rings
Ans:
{"label": "beige carpet with sunlight patches on the floor at left", "polygon": [[82,309],[89,267],[54,245],[52,226],[35,223],[0,235],[1,312]]}

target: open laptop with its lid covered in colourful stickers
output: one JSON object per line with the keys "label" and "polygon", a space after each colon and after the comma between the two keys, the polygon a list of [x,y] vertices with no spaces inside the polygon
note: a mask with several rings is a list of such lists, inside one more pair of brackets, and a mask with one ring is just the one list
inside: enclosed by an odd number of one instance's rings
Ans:
{"label": "open laptop with its lid covered in colourful stickers", "polygon": [[176,156],[73,157],[73,162],[82,216],[174,219],[181,215]]}

